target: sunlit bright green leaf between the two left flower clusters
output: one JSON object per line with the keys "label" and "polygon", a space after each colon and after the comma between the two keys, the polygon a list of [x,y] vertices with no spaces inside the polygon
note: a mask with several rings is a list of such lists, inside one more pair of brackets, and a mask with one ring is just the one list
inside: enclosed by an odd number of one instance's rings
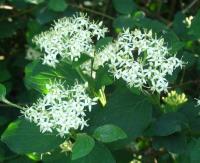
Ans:
{"label": "sunlit bright green leaf between the two left flower clusters", "polygon": [[27,88],[35,89],[42,93],[46,91],[45,85],[50,80],[65,81],[66,85],[73,85],[75,80],[81,81],[76,70],[64,62],[58,64],[56,69],[54,69],[35,61],[26,66],[25,74],[25,85]]}

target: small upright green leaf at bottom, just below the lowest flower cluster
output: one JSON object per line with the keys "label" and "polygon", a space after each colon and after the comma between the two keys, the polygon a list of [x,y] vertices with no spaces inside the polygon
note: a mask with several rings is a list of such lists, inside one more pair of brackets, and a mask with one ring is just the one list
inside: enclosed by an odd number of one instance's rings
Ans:
{"label": "small upright green leaf at bottom, just below the lowest flower cluster", "polygon": [[88,155],[95,146],[95,141],[87,134],[78,134],[72,148],[72,160]]}

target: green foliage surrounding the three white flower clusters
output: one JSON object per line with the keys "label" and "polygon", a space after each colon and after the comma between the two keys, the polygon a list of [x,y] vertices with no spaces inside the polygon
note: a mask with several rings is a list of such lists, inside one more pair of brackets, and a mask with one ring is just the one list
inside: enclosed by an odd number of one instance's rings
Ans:
{"label": "green foliage surrounding the three white flower clusters", "polygon": [[[194,100],[200,97],[199,5],[186,0],[0,0],[0,162],[199,163],[200,107]],[[130,88],[107,66],[93,79],[81,71],[82,64],[92,60],[86,54],[56,68],[25,59],[29,48],[45,53],[33,44],[35,35],[56,19],[80,11],[103,20],[109,29],[105,38],[92,40],[96,51],[127,28],[152,30],[164,38],[171,55],[185,63],[167,77],[169,91],[184,93],[187,100],[174,109],[163,100],[167,93],[148,92],[148,83]],[[87,112],[89,126],[64,138],[41,133],[36,124],[19,118],[19,109],[47,93],[46,84],[55,80],[63,81],[65,88],[75,81],[88,82],[89,96],[99,98]],[[62,146],[64,142],[71,144]]]}

